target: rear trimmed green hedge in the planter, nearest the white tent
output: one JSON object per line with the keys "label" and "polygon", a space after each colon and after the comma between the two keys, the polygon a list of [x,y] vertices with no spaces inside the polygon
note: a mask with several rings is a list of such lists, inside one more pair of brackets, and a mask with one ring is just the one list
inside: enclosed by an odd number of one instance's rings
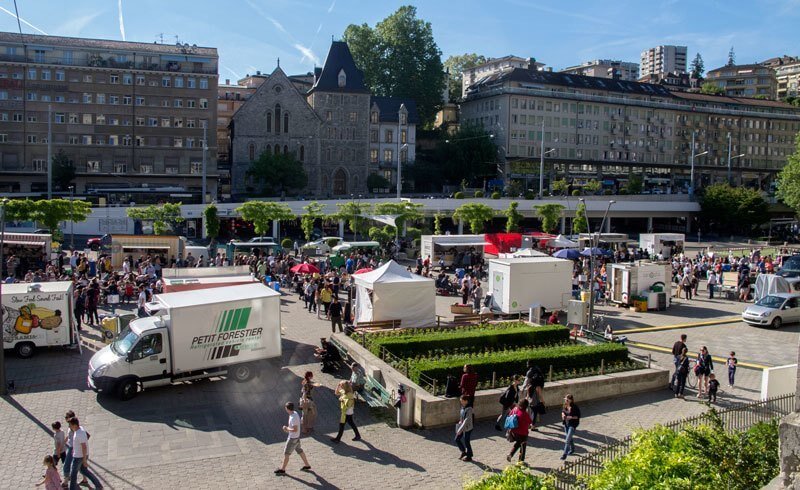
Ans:
{"label": "rear trimmed green hedge in the planter, nearest the white tent", "polygon": [[469,330],[437,330],[407,335],[383,335],[370,339],[369,349],[376,356],[380,347],[397,357],[407,359],[428,355],[431,351],[456,349],[481,350],[486,348],[529,347],[567,342],[569,329],[561,325],[534,327],[526,323],[508,323]]}

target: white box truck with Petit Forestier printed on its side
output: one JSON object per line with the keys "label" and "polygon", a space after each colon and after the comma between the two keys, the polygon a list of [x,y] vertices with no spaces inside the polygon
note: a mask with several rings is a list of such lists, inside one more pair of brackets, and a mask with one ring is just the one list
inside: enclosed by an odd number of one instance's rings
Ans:
{"label": "white box truck with Petit Forestier printed on its side", "polygon": [[89,361],[89,386],[123,400],[140,389],[230,374],[244,382],[281,355],[280,293],[262,284],[156,295]]}

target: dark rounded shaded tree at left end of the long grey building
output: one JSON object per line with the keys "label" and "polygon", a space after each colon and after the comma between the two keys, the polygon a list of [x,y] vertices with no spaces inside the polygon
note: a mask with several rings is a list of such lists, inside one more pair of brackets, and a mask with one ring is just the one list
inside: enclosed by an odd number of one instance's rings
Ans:
{"label": "dark rounded shaded tree at left end of the long grey building", "polygon": [[483,127],[464,124],[454,134],[443,135],[433,160],[444,181],[460,183],[463,190],[496,175],[497,147],[493,135]]}

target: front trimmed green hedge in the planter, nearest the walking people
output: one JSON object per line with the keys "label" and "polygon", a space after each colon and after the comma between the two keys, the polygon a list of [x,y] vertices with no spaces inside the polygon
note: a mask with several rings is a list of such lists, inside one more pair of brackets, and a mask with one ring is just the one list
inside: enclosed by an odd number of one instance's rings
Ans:
{"label": "front trimmed green hedge in the planter, nearest the walking people", "polygon": [[532,361],[547,372],[550,366],[554,371],[599,366],[601,359],[605,364],[628,361],[628,348],[616,343],[577,344],[442,356],[410,361],[409,374],[415,383],[420,382],[422,375],[443,383],[447,376],[460,375],[465,364],[473,366],[480,380],[491,378],[492,373],[498,378],[525,374],[527,361]]}

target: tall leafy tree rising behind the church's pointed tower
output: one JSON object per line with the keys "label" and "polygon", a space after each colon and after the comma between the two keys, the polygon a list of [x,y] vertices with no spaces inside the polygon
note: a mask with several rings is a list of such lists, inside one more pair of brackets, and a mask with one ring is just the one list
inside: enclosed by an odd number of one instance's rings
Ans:
{"label": "tall leafy tree rising behind the church's pointed tower", "polygon": [[422,123],[433,122],[445,88],[442,52],[416,7],[400,7],[374,28],[351,24],[343,38],[373,95],[413,98]]}

